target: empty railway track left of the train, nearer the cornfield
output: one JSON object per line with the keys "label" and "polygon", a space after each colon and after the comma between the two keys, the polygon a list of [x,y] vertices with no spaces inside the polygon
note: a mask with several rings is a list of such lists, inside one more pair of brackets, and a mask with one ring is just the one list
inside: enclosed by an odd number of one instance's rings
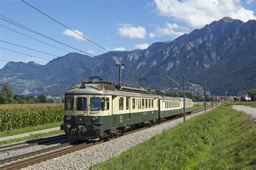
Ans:
{"label": "empty railway track left of the train, nearer the cornfield", "polygon": [[43,143],[49,142],[49,141],[54,141],[54,140],[59,140],[59,139],[68,139],[68,137],[65,134],[59,135],[59,136],[53,136],[53,137],[48,137],[48,138],[40,138],[40,139],[33,139],[29,141],[24,141],[22,143],[18,144],[11,144],[11,145],[5,145],[0,147],[0,152],[5,152],[5,151],[10,151],[10,150],[17,150],[25,147],[31,147],[35,145],[41,145]]}

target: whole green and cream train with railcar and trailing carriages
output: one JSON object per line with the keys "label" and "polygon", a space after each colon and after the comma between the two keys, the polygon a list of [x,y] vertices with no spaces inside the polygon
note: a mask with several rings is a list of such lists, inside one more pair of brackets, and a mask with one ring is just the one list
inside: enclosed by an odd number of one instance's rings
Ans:
{"label": "whole green and cream train with railcar and trailing carriages", "polygon": [[[183,114],[183,98],[95,76],[73,84],[65,92],[64,105],[60,129],[76,140],[111,138]],[[185,98],[185,112],[192,111],[193,101]]]}

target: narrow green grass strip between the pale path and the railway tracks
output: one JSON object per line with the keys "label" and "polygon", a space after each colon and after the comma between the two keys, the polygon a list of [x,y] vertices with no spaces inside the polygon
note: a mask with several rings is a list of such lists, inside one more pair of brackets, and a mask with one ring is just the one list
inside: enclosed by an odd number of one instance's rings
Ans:
{"label": "narrow green grass strip between the pale path and the railway tracks", "polygon": [[63,130],[56,130],[56,131],[51,131],[51,132],[47,132],[47,133],[40,133],[40,134],[31,134],[30,136],[24,137],[24,138],[17,138],[17,139],[10,139],[10,140],[0,141],[0,145],[10,144],[10,143],[13,143],[13,142],[16,142],[16,141],[42,138],[42,137],[52,136],[54,134],[61,134],[61,133],[63,133]]}

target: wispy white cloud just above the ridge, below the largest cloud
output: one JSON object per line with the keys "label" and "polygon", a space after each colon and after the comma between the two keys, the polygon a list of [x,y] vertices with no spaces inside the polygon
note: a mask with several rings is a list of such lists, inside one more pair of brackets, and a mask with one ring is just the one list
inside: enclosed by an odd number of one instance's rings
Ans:
{"label": "wispy white cloud just above the ridge, below the largest cloud", "polygon": [[176,23],[165,23],[164,27],[157,26],[156,31],[149,34],[150,38],[161,36],[172,36],[174,38],[179,37],[185,33],[190,32],[190,29],[185,26],[179,26]]}

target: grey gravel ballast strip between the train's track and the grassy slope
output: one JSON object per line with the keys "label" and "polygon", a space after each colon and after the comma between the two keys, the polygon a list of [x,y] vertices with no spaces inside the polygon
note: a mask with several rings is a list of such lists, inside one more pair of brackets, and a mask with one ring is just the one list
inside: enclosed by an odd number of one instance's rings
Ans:
{"label": "grey gravel ballast strip between the train's track and the grassy slope", "polygon": [[[210,109],[209,109],[210,110]],[[186,116],[186,119],[190,119],[195,115],[204,113],[198,112],[190,116]],[[127,134],[104,143],[97,144],[83,150],[72,152],[70,154],[62,155],[61,157],[46,160],[36,165],[26,167],[24,169],[85,169],[90,165],[98,162],[105,161],[113,156],[119,155],[121,152],[128,150],[130,147],[142,143],[160,133],[163,130],[170,129],[173,126],[183,122],[183,117],[175,119],[171,122],[153,126],[152,128]]]}

